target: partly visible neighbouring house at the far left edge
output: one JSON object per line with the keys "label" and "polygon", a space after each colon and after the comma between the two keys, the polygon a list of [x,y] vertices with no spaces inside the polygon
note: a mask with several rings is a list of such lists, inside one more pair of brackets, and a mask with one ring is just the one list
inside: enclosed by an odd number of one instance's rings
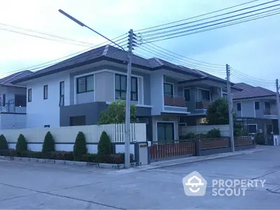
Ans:
{"label": "partly visible neighbouring house at the far left edge", "polygon": [[26,87],[12,83],[31,73],[31,71],[20,71],[0,79],[0,130],[25,128]]}

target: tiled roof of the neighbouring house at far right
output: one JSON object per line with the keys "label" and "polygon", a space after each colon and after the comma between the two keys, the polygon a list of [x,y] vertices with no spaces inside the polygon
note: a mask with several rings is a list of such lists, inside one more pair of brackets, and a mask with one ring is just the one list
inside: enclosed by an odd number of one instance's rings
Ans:
{"label": "tiled roof of the neighbouring house at far right", "polygon": [[276,95],[275,92],[267,90],[263,87],[254,87],[246,83],[236,83],[234,87],[242,89],[240,92],[235,92],[232,94],[232,99],[246,99],[254,97],[267,97]]}

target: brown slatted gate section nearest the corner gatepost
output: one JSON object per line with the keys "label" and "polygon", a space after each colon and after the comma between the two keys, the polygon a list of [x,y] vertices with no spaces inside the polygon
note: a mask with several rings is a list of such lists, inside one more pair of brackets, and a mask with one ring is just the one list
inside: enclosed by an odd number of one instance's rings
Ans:
{"label": "brown slatted gate section nearest the corner gatepost", "polygon": [[149,147],[151,161],[195,155],[195,141],[153,142]]}

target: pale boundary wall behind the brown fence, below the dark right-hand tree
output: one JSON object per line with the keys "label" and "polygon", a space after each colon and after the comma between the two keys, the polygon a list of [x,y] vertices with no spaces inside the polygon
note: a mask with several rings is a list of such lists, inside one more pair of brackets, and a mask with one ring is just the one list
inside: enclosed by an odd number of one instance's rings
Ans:
{"label": "pale boundary wall behind the brown fence, below the dark right-hand tree", "polygon": [[199,125],[199,126],[184,126],[179,127],[179,134],[186,135],[190,132],[195,134],[207,134],[209,130],[219,129],[222,137],[230,137],[230,125]]}

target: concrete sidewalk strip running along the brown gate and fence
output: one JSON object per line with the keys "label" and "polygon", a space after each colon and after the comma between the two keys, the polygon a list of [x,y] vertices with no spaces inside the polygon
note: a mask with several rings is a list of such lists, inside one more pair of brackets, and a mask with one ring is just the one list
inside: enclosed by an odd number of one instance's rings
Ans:
{"label": "concrete sidewalk strip running along the brown gate and fence", "polygon": [[136,168],[130,168],[125,171],[121,170],[119,171],[120,173],[130,173],[130,172],[135,172],[135,171],[144,171],[148,169],[158,169],[161,167],[169,167],[169,166],[174,166],[174,165],[181,165],[181,164],[186,164],[186,163],[191,163],[191,162],[200,162],[204,160],[213,160],[217,158],[226,158],[226,157],[231,157],[231,156],[236,156],[236,155],[244,155],[244,154],[250,154],[250,153],[258,153],[261,151],[267,151],[267,150],[272,150],[275,149],[276,146],[262,146],[262,145],[257,145],[255,148],[246,150],[246,151],[237,151],[235,153],[218,153],[218,154],[213,154],[213,155],[204,155],[204,156],[193,156],[193,157],[188,157],[188,158],[178,158],[178,159],[172,159],[172,160],[162,160],[158,162],[151,162],[150,165],[144,165],[141,167],[136,167]]}

